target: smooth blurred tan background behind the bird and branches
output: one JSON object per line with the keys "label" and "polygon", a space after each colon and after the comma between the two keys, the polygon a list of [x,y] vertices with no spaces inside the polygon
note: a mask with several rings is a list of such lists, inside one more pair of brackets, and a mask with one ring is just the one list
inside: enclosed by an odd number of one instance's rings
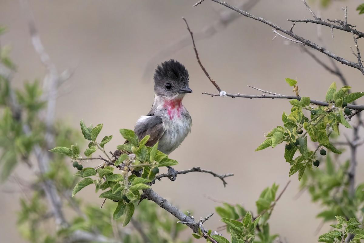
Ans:
{"label": "smooth blurred tan background behind the bird and branches", "polygon": [[[114,135],[107,145],[113,150],[123,142],[119,128],[133,128],[140,115],[145,115],[153,102],[153,72],[143,72],[147,62],[163,47],[187,34],[184,16],[192,31],[201,30],[218,18],[226,8],[204,1],[192,8],[197,0],[126,1],[126,0],[63,0],[30,1],[37,28],[46,51],[59,71],[75,70],[62,85],[56,115],[78,128],[80,119],[86,124],[103,123],[100,136]],[[237,5],[240,1],[230,0]],[[355,11],[359,0],[335,1],[321,11],[323,18],[343,19],[342,7],[348,5],[348,22],[363,30],[364,16]],[[310,3],[314,11],[318,5]],[[261,0],[250,13],[264,17],[282,27],[290,28],[286,19],[312,18],[300,0]],[[29,38],[27,23],[18,1],[0,0],[0,24],[8,27],[1,43],[13,47],[11,57],[18,66],[13,83],[20,87],[24,80],[42,80],[46,73]],[[296,24],[294,31],[306,39],[317,41],[313,24]],[[355,61],[351,54],[352,36],[322,28],[328,50]],[[339,79],[323,70],[308,55],[284,39],[274,38],[272,28],[258,21],[240,17],[213,37],[196,43],[202,63],[222,90],[229,93],[260,94],[246,85],[281,94],[291,94],[284,78],[298,80],[301,96],[324,99],[331,82]],[[273,39],[273,40],[272,40]],[[364,41],[358,40],[364,51]],[[322,60],[328,58],[315,52]],[[307,192],[294,200],[298,192],[297,175],[288,177],[290,166],[283,158],[283,145],[259,152],[254,149],[264,140],[263,133],[281,125],[283,110],[289,111],[287,100],[209,97],[201,93],[216,92],[198,66],[192,46],[164,56],[153,65],[174,58],[190,73],[194,91],[184,99],[192,119],[192,133],[170,157],[179,161],[175,169],[201,166],[219,173],[233,172],[223,188],[221,181],[208,174],[179,175],[177,181],[163,180],[153,188],[181,209],[194,212],[195,218],[205,217],[219,205],[206,196],[230,203],[241,203],[256,214],[255,201],[265,187],[280,184],[278,193],[288,180],[288,189],[278,201],[270,220],[271,232],[281,234],[287,242],[316,242],[321,220],[315,216],[319,205],[313,204]],[[358,70],[339,64],[349,84],[356,91],[364,90],[363,76]],[[341,85],[341,84],[340,84]],[[127,100],[127,102],[125,102]],[[361,102],[364,102],[361,99]],[[344,133],[349,130],[342,128]],[[359,158],[363,157],[360,152]],[[89,166],[94,166],[91,164]],[[357,182],[363,181],[363,161],[357,167]],[[20,169],[19,176],[27,171]],[[16,210],[20,193],[5,193],[15,184],[1,185],[1,242],[24,242],[16,230]],[[88,193],[87,193],[88,192]],[[93,204],[102,199],[94,189],[78,196]],[[220,226],[214,215],[206,228]],[[329,223],[320,231],[328,230]],[[190,235],[190,231],[185,231]],[[225,232],[222,232],[225,233]],[[224,235],[227,235],[226,233]]]}

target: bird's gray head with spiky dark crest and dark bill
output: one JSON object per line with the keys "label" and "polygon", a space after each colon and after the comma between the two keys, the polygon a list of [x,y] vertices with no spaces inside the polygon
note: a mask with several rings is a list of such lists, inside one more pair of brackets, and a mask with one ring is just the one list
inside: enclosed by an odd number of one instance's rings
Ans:
{"label": "bird's gray head with spiky dark crest and dark bill", "polygon": [[191,93],[188,71],[181,63],[170,59],[158,65],[154,73],[154,92],[163,97]]}

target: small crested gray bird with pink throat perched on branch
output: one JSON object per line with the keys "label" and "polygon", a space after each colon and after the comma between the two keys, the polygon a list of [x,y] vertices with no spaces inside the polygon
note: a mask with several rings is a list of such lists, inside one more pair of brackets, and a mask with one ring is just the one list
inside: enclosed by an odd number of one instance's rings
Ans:
{"label": "small crested gray bird with pink throat perched on branch", "polygon": [[[170,59],[157,66],[154,72],[154,102],[147,115],[142,115],[135,124],[134,133],[139,140],[150,135],[146,146],[153,146],[158,141],[157,149],[170,154],[181,145],[191,132],[192,119],[182,99],[192,93],[189,87],[189,73],[180,62]],[[125,141],[127,143],[128,141]],[[116,150],[118,157],[124,150]],[[171,180],[175,180],[176,171],[170,166]]]}

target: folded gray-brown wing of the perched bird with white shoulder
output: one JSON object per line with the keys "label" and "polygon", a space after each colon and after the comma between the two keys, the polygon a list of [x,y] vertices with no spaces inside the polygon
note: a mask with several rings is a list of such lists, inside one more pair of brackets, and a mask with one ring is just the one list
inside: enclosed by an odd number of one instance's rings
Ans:
{"label": "folded gray-brown wing of the perched bird with white shoulder", "polygon": [[[149,114],[149,113],[148,113]],[[152,147],[157,143],[157,141],[163,136],[165,130],[163,128],[163,121],[160,117],[156,115],[146,115],[142,116],[135,124],[134,133],[138,136],[139,141],[143,137],[150,135],[149,140],[146,142],[145,146]],[[126,144],[128,141],[125,141]],[[131,154],[131,152],[117,149],[114,152],[115,156],[120,156],[121,154]]]}

